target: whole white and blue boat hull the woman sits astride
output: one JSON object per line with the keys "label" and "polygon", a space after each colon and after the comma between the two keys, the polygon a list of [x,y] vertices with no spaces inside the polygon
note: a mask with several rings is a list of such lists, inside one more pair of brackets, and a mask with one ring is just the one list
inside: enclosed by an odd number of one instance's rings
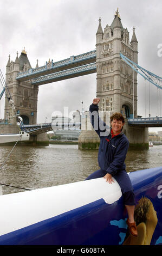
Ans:
{"label": "whole white and blue boat hull the woman sits astride", "polygon": [[[162,244],[162,167],[128,174],[135,202],[157,212],[151,245]],[[114,179],[115,181],[115,179]],[[103,178],[0,196],[0,245],[122,245],[127,213],[118,183]]]}

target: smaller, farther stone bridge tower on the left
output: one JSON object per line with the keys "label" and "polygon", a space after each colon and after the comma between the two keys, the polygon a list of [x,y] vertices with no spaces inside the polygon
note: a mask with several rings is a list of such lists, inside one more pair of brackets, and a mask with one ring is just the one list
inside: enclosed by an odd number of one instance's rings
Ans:
{"label": "smaller, farther stone bridge tower on the left", "polygon": [[[33,86],[30,81],[19,82],[16,80],[19,72],[31,69],[27,52],[22,50],[20,57],[15,59],[15,62],[9,60],[6,66],[6,83],[11,94],[16,112],[23,118],[24,124],[36,124],[37,119],[37,96],[38,86]],[[4,118],[8,119],[11,124],[16,124],[16,118],[11,118],[13,115],[9,106],[7,97],[5,97]]]}

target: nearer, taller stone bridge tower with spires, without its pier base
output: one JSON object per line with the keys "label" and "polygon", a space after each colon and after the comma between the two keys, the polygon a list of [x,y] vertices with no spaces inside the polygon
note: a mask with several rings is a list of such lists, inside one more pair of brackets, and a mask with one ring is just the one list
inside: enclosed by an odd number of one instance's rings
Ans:
{"label": "nearer, taller stone bridge tower with spires, without its pier base", "polygon": [[[138,62],[138,41],[133,29],[129,42],[129,32],[122,27],[118,9],[111,26],[104,31],[99,19],[96,33],[96,96],[100,98],[100,111],[121,112],[126,117],[137,117],[137,73],[120,58],[120,52],[133,62]],[[134,84],[133,84],[134,75]]]}

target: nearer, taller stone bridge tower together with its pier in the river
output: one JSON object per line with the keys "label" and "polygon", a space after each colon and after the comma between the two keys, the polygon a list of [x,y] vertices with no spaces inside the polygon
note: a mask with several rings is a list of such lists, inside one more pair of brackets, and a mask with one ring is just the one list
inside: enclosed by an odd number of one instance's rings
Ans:
{"label": "nearer, taller stone bridge tower together with its pier in the river", "polygon": [[[105,117],[120,112],[125,117],[124,132],[132,148],[148,148],[148,128],[131,127],[127,118],[137,117],[137,72],[120,58],[120,52],[138,63],[138,41],[133,28],[130,41],[129,32],[121,23],[117,9],[111,26],[104,31],[99,19],[96,32],[96,97],[99,97],[99,111]],[[134,93],[133,93],[134,90]],[[85,129],[79,137],[80,149],[98,149],[99,137],[94,130],[89,131],[88,113],[83,116]]]}

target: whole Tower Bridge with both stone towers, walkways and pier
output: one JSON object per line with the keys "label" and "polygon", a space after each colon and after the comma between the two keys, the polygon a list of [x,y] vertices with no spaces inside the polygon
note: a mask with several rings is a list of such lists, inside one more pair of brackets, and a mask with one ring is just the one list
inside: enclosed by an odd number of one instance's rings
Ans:
{"label": "whole Tower Bridge with both stone towers, walkways and pier", "polygon": [[[124,132],[129,139],[130,147],[148,148],[148,127],[162,126],[162,118],[140,119],[137,113],[137,74],[142,72],[145,80],[158,87],[154,78],[159,79],[147,70],[138,66],[138,41],[133,28],[130,41],[129,32],[121,23],[117,9],[111,26],[106,25],[104,31],[99,19],[96,32],[96,50],[70,56],[67,59],[46,62],[44,66],[31,68],[27,52],[18,53],[15,62],[9,60],[6,68],[6,83],[11,94],[16,112],[23,118],[25,125],[35,125],[37,120],[38,86],[72,77],[88,75],[96,72],[96,97],[100,98],[99,110],[104,115],[109,112],[121,112],[126,117]],[[140,74],[140,72],[139,72]],[[141,75],[141,74],[140,74]],[[154,75],[154,77],[152,77]],[[5,119],[12,116],[7,98],[5,99]],[[80,149],[98,149],[99,137],[89,125],[88,112],[79,137]],[[146,118],[146,117],[145,117]],[[12,119],[12,124],[13,123]],[[15,121],[16,122],[16,121]],[[39,126],[39,125],[37,125]],[[45,125],[46,126],[46,125]],[[34,126],[33,126],[34,127]],[[38,128],[37,128],[38,129]],[[47,127],[50,130],[50,124]],[[42,129],[42,132],[46,129]],[[34,133],[34,130],[33,130]],[[35,138],[36,133],[35,132]],[[32,135],[34,136],[34,135]],[[31,136],[31,137],[32,137]]]}

